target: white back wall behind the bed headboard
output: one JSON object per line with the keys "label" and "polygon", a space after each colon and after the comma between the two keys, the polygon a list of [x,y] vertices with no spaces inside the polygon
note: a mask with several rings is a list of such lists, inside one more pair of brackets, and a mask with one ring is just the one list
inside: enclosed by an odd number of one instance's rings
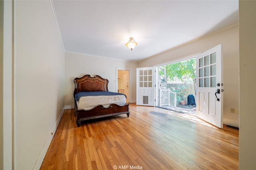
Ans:
{"label": "white back wall behind the bed headboard", "polygon": [[74,78],[85,74],[99,75],[108,79],[108,91],[116,92],[116,67],[130,71],[130,86],[132,86],[131,103],[136,102],[136,68],[137,63],[66,52],[65,57],[65,106],[74,108]]}

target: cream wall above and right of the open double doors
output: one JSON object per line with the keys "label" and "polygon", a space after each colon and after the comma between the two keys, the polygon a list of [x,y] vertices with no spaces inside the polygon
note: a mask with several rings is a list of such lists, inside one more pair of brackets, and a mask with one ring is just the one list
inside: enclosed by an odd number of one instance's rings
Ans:
{"label": "cream wall above and right of the open double doors", "polygon": [[238,25],[212,34],[196,41],[186,43],[170,51],[166,51],[138,63],[138,67],[149,67],[168,61],[177,61],[180,58],[202,53],[223,45],[223,70],[224,70],[224,108],[223,123],[239,127],[239,115],[231,113],[230,108],[238,109],[238,67],[239,67],[239,31]]}

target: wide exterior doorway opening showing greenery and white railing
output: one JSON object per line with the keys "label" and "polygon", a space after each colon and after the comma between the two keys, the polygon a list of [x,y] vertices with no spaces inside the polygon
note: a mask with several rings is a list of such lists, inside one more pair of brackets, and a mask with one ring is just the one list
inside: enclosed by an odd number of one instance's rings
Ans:
{"label": "wide exterior doorway opening showing greenery and white railing", "polygon": [[196,114],[196,58],[156,67],[156,106]]}

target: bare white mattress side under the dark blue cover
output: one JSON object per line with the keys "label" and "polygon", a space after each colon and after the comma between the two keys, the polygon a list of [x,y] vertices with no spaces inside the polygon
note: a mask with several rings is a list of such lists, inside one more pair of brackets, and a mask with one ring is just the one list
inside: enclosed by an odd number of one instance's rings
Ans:
{"label": "bare white mattress side under the dark blue cover", "polygon": [[82,96],[79,98],[78,102],[76,102],[79,110],[90,110],[98,105],[109,107],[110,104],[123,106],[126,104],[126,96]]}

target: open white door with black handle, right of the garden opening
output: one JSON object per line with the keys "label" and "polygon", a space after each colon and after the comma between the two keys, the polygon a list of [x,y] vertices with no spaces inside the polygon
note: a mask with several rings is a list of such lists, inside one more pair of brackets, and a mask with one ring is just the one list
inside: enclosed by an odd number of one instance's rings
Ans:
{"label": "open white door with black handle, right of the garden opening", "polygon": [[196,56],[196,116],[223,128],[222,45]]}

